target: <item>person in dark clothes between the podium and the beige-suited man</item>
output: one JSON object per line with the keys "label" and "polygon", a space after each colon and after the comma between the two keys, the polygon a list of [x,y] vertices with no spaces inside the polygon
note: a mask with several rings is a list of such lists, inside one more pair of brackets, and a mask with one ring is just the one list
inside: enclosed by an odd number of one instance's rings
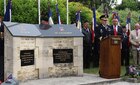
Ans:
{"label": "person in dark clothes between the podium and the beige-suited man", "polygon": [[122,26],[122,49],[121,49],[121,65],[129,66],[129,37],[126,32],[126,27]]}

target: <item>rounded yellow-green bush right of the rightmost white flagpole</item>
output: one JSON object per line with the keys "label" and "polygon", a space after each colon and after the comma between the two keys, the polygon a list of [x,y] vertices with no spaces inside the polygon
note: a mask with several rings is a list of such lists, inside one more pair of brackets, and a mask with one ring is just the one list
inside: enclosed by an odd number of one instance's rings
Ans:
{"label": "rounded yellow-green bush right of the rightmost white flagpole", "polygon": [[[69,16],[70,16],[71,23],[76,22],[75,21],[76,20],[75,14],[79,10],[81,10],[81,22],[83,23],[85,21],[88,21],[88,22],[91,23],[92,22],[92,16],[93,16],[92,10],[83,6],[83,4],[78,3],[78,2],[69,3]],[[99,18],[99,16],[100,16],[99,12],[96,11],[96,18]]]}

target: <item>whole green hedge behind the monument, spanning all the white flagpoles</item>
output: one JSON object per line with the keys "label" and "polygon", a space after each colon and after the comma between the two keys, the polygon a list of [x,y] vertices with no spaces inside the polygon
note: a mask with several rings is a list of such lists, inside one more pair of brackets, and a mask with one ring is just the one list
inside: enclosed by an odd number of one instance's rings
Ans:
{"label": "whole green hedge behind the monument, spanning all the white flagpoles", "polygon": [[[57,24],[57,13],[56,13],[56,1],[40,0],[41,1],[41,20],[48,20],[48,7],[52,10],[52,18],[55,24]],[[89,3],[89,2],[88,2]],[[60,11],[61,22],[66,24],[67,10],[66,0],[58,0],[58,8]],[[3,0],[0,1],[0,15],[4,16],[3,13]],[[76,23],[76,12],[81,10],[81,20],[92,21],[92,10],[84,6],[81,3],[69,3],[69,24]],[[97,18],[100,16],[97,12]],[[12,22],[22,23],[38,23],[38,3],[37,0],[12,0]]]}

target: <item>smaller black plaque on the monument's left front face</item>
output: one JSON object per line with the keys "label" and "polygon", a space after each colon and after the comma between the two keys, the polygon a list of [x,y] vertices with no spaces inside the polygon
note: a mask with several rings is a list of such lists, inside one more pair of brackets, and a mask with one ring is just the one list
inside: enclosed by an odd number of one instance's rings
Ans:
{"label": "smaller black plaque on the monument's left front face", "polygon": [[28,66],[34,64],[34,50],[20,51],[21,66]]}

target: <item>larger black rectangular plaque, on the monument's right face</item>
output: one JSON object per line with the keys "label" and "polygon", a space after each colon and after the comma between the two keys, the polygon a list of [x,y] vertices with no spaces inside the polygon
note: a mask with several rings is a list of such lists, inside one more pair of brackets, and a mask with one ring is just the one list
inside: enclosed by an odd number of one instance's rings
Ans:
{"label": "larger black rectangular plaque, on the monument's right face", "polygon": [[73,49],[53,49],[53,63],[73,63]]}

